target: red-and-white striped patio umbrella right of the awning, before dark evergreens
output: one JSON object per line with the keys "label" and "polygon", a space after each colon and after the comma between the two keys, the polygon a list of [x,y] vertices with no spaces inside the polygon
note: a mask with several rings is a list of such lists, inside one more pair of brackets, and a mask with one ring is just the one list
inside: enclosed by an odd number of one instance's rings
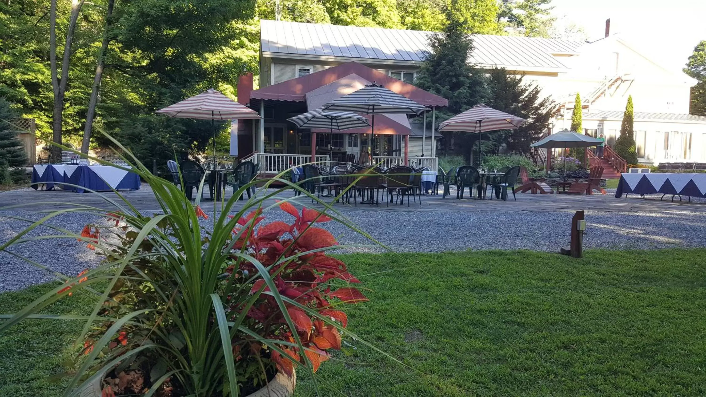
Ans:
{"label": "red-and-white striped patio umbrella right of the awning, before dark evergreens", "polygon": [[[471,109],[457,114],[439,124],[439,131],[466,131],[480,134],[480,144],[483,143],[483,133],[496,130],[514,130],[525,122],[522,117],[507,114],[484,104],[477,104]],[[478,145],[479,161],[483,160],[481,145]]]}

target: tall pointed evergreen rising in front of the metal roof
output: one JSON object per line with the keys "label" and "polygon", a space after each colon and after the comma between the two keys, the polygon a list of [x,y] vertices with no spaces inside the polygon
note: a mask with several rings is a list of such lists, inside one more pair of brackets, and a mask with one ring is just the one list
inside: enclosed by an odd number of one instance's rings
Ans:
{"label": "tall pointed evergreen rising in front of the metal roof", "polygon": [[[455,16],[457,13],[453,12],[453,7],[449,7],[446,10],[449,23],[442,32],[429,37],[432,52],[426,54],[426,60],[414,81],[414,85],[422,90],[448,99],[448,106],[437,111],[437,123],[484,102],[487,97],[483,72],[468,63],[473,51],[472,38],[467,35],[464,19]],[[451,134],[442,133],[444,154],[448,154]],[[474,144],[476,140],[477,136],[472,136],[464,141]]]}

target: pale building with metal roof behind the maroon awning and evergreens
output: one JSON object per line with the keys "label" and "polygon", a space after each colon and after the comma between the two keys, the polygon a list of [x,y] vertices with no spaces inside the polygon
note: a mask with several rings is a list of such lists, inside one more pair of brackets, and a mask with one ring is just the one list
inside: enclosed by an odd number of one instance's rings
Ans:
{"label": "pale building with metal roof behind the maroon awning and evergreens", "polygon": [[[261,20],[260,26],[260,87],[349,61],[413,83],[432,34],[274,20]],[[594,42],[474,35],[473,43],[469,63],[524,75],[526,82],[539,85],[543,94],[554,99],[550,132],[568,128],[573,108],[580,105],[583,132],[603,133],[612,145],[632,95],[640,161],[706,161],[706,124],[702,117],[688,114],[695,80],[663,68],[659,60],[611,35],[607,23],[606,36]],[[573,103],[577,92],[581,104]]]}

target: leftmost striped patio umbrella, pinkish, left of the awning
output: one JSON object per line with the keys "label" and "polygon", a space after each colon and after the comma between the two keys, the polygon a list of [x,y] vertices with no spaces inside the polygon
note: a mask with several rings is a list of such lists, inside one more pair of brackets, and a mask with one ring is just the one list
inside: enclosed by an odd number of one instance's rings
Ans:
{"label": "leftmost striped patio umbrella, pinkish, left of the awning", "polygon": [[260,114],[243,106],[224,94],[210,88],[206,92],[184,99],[176,104],[160,109],[157,113],[178,118],[202,118],[211,121],[213,130],[213,162],[216,162],[215,120],[238,120],[241,118],[260,118]]}

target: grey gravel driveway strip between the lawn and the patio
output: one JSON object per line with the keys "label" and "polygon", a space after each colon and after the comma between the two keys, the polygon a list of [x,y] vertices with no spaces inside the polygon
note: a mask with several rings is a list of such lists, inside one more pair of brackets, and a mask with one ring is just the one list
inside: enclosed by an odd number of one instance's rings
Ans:
{"label": "grey gravel driveway strip between the lawn and the patio", "polygon": [[[608,197],[606,197],[608,198]],[[615,200],[615,199],[613,199]],[[706,245],[706,211],[698,207],[674,205],[644,207],[643,210],[587,210],[585,248],[669,248]],[[208,206],[205,206],[208,207]],[[207,210],[206,208],[204,208]],[[208,210],[207,210],[208,212]],[[150,212],[151,213],[151,212]],[[556,252],[568,245],[572,212],[557,211],[423,211],[410,209],[352,209],[345,215],[355,224],[394,250],[439,252],[448,250],[527,249]],[[39,219],[31,211],[0,212],[0,242],[23,230],[25,224],[5,216]],[[268,221],[291,221],[292,217],[275,211]],[[104,217],[88,214],[62,214],[52,224],[77,233],[85,224],[107,222]],[[210,224],[210,220],[205,225]],[[363,236],[345,226],[329,222],[321,224],[340,238],[342,244],[371,244]],[[38,228],[30,236],[55,234],[49,228]],[[361,247],[355,252],[376,252],[381,248]],[[71,238],[52,238],[16,245],[12,252],[46,265],[52,271],[73,276],[94,267],[100,257]],[[25,288],[53,278],[47,271],[0,252],[0,292]]]}

